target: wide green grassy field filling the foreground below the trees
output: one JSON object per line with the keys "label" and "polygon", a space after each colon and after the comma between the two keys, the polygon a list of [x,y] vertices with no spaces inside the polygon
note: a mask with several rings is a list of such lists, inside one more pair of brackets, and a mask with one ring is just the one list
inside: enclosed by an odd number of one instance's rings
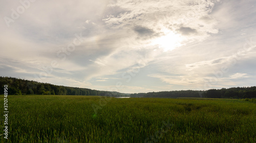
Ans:
{"label": "wide green grassy field filling the foreground below the trees", "polygon": [[238,99],[8,96],[8,108],[8,142],[256,142],[256,104]]}

